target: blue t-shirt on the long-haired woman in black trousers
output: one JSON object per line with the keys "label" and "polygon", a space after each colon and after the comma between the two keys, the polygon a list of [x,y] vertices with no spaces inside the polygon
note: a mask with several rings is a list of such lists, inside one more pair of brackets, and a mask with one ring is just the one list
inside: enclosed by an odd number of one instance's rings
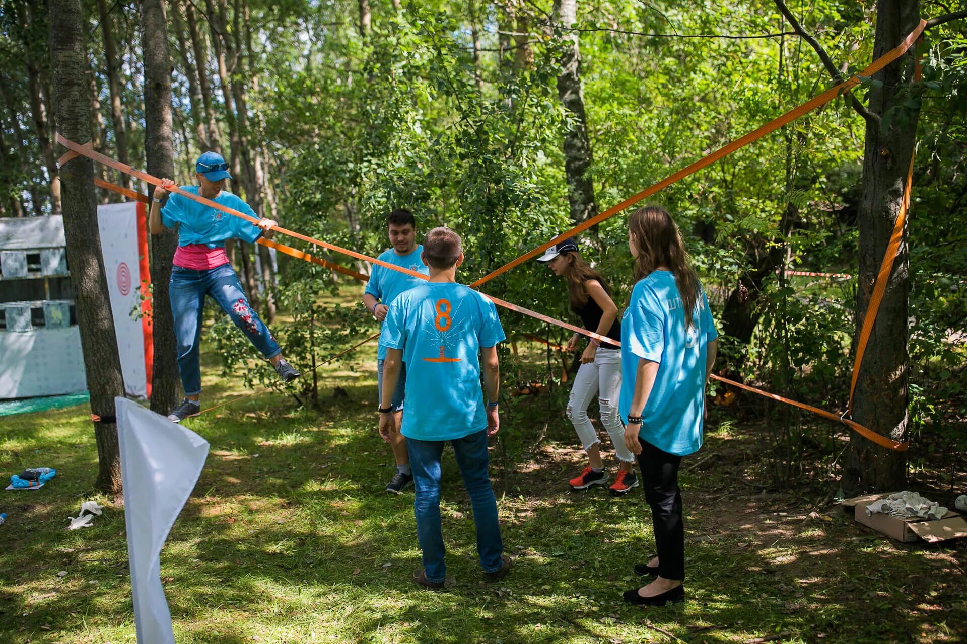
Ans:
{"label": "blue t-shirt on the long-haired woman in black trousers", "polygon": [[621,418],[628,422],[638,358],[658,362],[638,435],[676,456],[702,446],[705,358],[709,343],[718,338],[704,290],[691,321],[686,331],[682,297],[667,270],[655,270],[634,285],[621,320]]}

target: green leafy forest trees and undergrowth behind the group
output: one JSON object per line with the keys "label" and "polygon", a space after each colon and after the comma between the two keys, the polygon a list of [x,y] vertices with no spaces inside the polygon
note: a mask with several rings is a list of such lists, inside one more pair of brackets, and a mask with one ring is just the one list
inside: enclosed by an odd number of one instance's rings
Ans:
{"label": "green leafy forest trees and undergrowth behind the group", "polygon": [[[90,140],[96,150],[152,171],[151,155],[163,146],[146,135],[162,107],[152,94],[161,82],[159,58],[149,49],[166,45],[177,182],[192,183],[193,160],[215,150],[231,163],[231,189],[257,212],[370,255],[386,246],[384,214],[408,208],[422,230],[445,224],[463,236],[468,259],[461,274],[469,282],[818,94],[833,84],[833,71],[862,69],[873,57],[883,7],[902,13],[911,5],[924,16],[957,9],[942,2],[880,5],[877,14],[870,2],[825,0],[789,7],[85,1]],[[29,0],[2,4],[2,216],[62,209],[48,9]],[[952,490],[964,469],[965,29],[967,22],[954,20],[927,32],[918,49],[922,81],[898,91],[864,79],[854,92],[863,103],[895,91],[877,127],[915,124],[918,141],[901,263],[909,270],[909,315],[900,324],[909,335],[909,371],[901,375],[909,395],[898,426],[913,449],[900,462],[902,476],[888,472],[881,484],[901,483],[928,465],[934,483]],[[676,217],[726,336],[717,372],[837,412],[848,392],[862,279],[868,135],[856,102],[836,99],[654,200]],[[147,191],[103,166],[96,172]],[[117,199],[98,191],[101,203]],[[620,304],[631,280],[626,221],[614,217],[581,239]],[[277,308],[292,317],[278,335],[297,363],[318,364],[374,329],[360,306],[320,303],[320,294],[335,294],[346,278],[277,261],[261,246],[229,250],[265,317],[272,321]],[[158,262],[152,258],[153,269]],[[355,267],[368,270],[365,263]],[[790,270],[851,277],[802,278]],[[520,266],[484,291],[554,317],[570,315],[563,284],[542,266]],[[271,379],[270,370],[252,366],[248,344],[226,319],[217,314],[215,324],[209,333],[226,373],[251,385]],[[568,334],[513,314],[505,325],[521,342],[536,335],[563,344]],[[874,342],[866,359],[897,350],[890,345]],[[546,369],[536,373],[514,352],[504,349],[508,392],[537,382],[549,397],[566,393],[559,356],[547,350]],[[176,395],[173,361],[165,359],[156,374],[159,406]],[[318,404],[320,393],[317,380],[307,379],[296,400]],[[712,393],[729,422],[767,421],[774,449],[762,473],[771,485],[803,474],[870,482],[860,469],[850,474],[851,466],[865,465],[852,453],[843,458],[845,427],[721,386]],[[508,397],[505,413],[522,421],[518,426],[546,428],[555,406],[526,400]]]}

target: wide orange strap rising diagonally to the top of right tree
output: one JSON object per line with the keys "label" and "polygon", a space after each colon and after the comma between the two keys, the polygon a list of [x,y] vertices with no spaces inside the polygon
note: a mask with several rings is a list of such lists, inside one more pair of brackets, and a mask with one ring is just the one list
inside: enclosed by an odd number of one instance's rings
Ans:
{"label": "wide orange strap rising diagonally to the top of right tree", "polygon": [[912,32],[910,32],[910,35],[907,36],[903,40],[903,42],[901,42],[896,47],[894,47],[894,49],[888,51],[886,54],[884,54],[879,59],[874,61],[869,67],[859,72],[857,75],[853,76],[852,78],[845,80],[842,83],[839,83],[835,87],[827,90],[826,92],[823,92],[818,97],[812,98],[811,100],[806,101],[799,107],[796,107],[795,109],[786,112],[782,116],[778,117],[776,120],[771,121],[766,125],[761,126],[758,129],[749,132],[742,138],[736,139],[735,141],[729,143],[728,145],[722,148],[719,148],[716,152],[712,154],[708,154],[707,156],[703,156],[702,158],[698,159],[697,161],[689,165],[687,168],[683,168],[682,170],[679,170],[675,174],[671,175],[670,177],[662,179],[660,182],[645,188],[638,194],[626,199],[620,204],[617,204],[616,206],[612,206],[608,210],[604,210],[603,212],[601,212],[601,214],[591,217],[590,219],[586,219],[585,221],[581,222],[577,226],[574,226],[573,228],[571,228],[571,230],[568,231],[567,233],[562,233],[561,235],[558,235],[556,238],[553,238],[550,241],[543,243],[542,245],[538,246],[534,250],[521,255],[517,259],[511,262],[508,262],[507,264],[505,264],[504,266],[501,266],[500,268],[497,268],[496,270],[489,273],[488,275],[484,275],[484,277],[477,280],[470,286],[479,287],[482,284],[489,282],[494,277],[500,275],[501,273],[507,272],[514,266],[519,266],[524,262],[537,257],[542,252],[544,252],[545,250],[547,250],[548,248],[556,244],[558,241],[563,241],[564,239],[573,237],[578,233],[582,233],[588,230],[592,226],[597,226],[605,219],[608,219],[609,217],[614,216],[615,214],[621,212],[622,210],[625,210],[626,208],[633,206],[634,204],[637,204],[642,199],[647,199],[648,197],[652,196],[656,192],[659,192],[660,190],[663,190],[664,188],[668,187],[672,183],[681,181],[686,177],[689,177],[689,175],[693,175],[694,173],[698,172],[699,170],[706,167],[707,165],[715,163],[716,161],[718,161],[718,159],[722,158],[723,156],[727,156],[728,154],[732,154],[735,151],[740,150],[741,148],[745,148],[748,144],[761,139],[766,134],[776,131],[779,127],[785,126],[791,123],[792,121],[795,121],[796,119],[800,118],[807,112],[811,112],[817,107],[820,107],[821,105],[825,105],[826,103],[830,102],[834,98],[844,94],[845,92],[848,92],[850,89],[860,84],[861,76],[869,77],[874,73],[876,73],[877,71],[887,67],[888,65],[893,63],[894,60],[902,56],[907,51],[907,49],[909,49],[913,45],[914,42],[917,42],[917,39],[920,38],[920,35],[923,33],[923,29],[925,27],[926,27],[926,20],[921,19],[920,24],[917,25],[917,28],[914,29]]}

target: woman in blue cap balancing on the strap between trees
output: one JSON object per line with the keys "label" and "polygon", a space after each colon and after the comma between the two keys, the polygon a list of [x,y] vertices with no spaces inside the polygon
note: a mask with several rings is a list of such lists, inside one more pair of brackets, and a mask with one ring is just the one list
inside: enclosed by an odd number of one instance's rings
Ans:
{"label": "woman in blue cap balancing on the strap between trees", "polygon": [[[223,190],[225,180],[231,177],[228,164],[220,154],[202,154],[194,169],[198,185],[182,186],[182,190],[252,217],[258,216],[249,208],[249,204]],[[201,395],[198,350],[206,294],[218,302],[221,310],[242,329],[255,349],[272,363],[279,378],[289,382],[299,378],[299,372],[282,358],[278,342],[249,306],[238,275],[225,255],[226,239],[238,238],[254,243],[262,236],[273,238],[275,232],[269,229],[276,222],[263,217],[257,224],[252,224],[176,193],[171,194],[164,208],[161,208],[161,196],[174,185],[175,182],[170,179],[162,179],[161,186],[155,188],[149,227],[152,235],[159,235],[164,228],[178,226],[178,250],[175,251],[168,294],[178,340],[178,372],[185,389],[185,400],[168,414],[168,420],[180,423],[185,418],[197,416],[201,410],[198,403]]]}

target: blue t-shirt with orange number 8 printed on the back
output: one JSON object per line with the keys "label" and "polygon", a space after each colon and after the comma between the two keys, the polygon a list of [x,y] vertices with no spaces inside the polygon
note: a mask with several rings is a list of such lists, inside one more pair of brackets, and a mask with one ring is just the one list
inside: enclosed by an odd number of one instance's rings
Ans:
{"label": "blue t-shirt with orange number 8 printed on the back", "polygon": [[486,429],[480,350],[503,339],[497,307],[462,284],[425,282],[396,297],[379,345],[406,361],[400,432],[453,440]]}

